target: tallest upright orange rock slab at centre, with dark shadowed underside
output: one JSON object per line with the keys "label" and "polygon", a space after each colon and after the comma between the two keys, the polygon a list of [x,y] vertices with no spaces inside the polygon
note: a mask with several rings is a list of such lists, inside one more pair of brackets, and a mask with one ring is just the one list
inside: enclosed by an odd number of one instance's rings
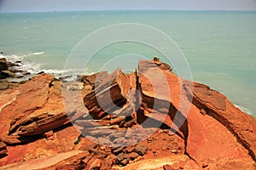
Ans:
{"label": "tallest upright orange rock slab at centre, with dark shadowed underside", "polygon": [[[160,65],[160,61],[157,63]],[[138,88],[142,94],[142,105],[137,111],[137,120],[143,123],[150,117],[158,124],[166,123],[178,133],[181,130],[181,134],[186,136],[188,113],[179,107],[184,99],[182,80],[169,69],[162,69],[158,65],[151,60],[141,60],[138,64]],[[187,105],[190,105],[189,102]]]}

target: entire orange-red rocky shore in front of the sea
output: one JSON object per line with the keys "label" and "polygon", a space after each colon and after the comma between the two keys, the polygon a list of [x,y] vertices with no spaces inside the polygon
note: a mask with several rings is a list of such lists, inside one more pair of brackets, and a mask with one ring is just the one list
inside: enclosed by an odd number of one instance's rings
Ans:
{"label": "entire orange-red rocky shore in front of the sea", "polygon": [[0,87],[0,169],[256,169],[256,119],[159,59]]}

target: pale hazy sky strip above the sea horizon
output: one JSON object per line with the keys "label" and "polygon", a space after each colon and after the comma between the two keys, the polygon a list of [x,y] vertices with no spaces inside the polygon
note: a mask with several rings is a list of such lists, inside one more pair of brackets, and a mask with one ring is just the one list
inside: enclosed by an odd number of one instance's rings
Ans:
{"label": "pale hazy sky strip above the sea horizon", "polygon": [[177,9],[256,10],[256,0],[0,0],[0,12]]}

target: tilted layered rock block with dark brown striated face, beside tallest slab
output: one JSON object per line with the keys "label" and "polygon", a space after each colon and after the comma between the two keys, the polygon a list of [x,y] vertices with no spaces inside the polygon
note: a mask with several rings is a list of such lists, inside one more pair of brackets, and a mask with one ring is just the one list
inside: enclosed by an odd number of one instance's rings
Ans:
{"label": "tilted layered rock block with dark brown striated face, beside tallest slab", "polygon": [[88,108],[90,115],[95,119],[100,119],[106,114],[131,115],[134,101],[131,95],[130,77],[117,69],[100,80],[102,82],[99,86],[84,97],[84,105]]}

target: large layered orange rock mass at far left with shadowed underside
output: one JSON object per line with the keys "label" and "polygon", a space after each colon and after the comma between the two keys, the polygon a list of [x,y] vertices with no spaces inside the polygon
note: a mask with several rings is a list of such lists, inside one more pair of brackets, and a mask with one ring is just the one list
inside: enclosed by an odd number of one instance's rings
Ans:
{"label": "large layered orange rock mass at far left with shadowed underside", "polygon": [[[66,93],[67,94],[67,93]],[[5,91],[0,134],[7,144],[19,144],[26,141],[26,136],[40,135],[56,127],[61,127],[70,120],[69,114],[79,110],[65,108],[61,94],[61,82],[46,74],[32,77],[19,87]],[[68,98],[66,102],[76,102]]]}

